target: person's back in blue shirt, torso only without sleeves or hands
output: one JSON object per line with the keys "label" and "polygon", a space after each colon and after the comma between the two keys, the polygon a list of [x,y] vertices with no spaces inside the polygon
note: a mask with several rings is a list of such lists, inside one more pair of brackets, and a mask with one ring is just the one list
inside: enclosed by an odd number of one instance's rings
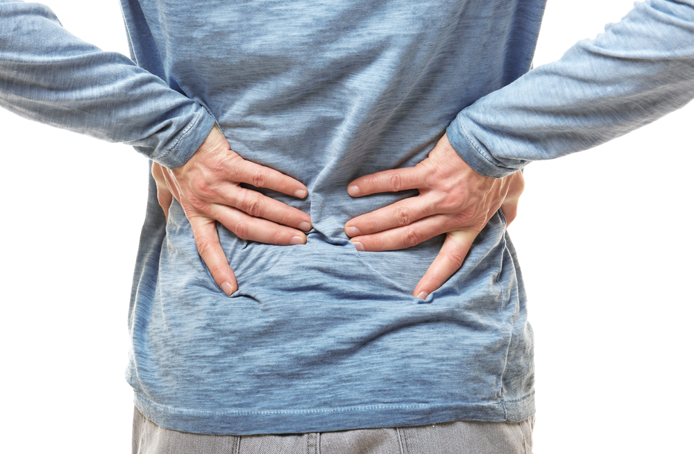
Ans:
{"label": "person's back in blue shirt, torso only without sleeves or hands", "polygon": [[459,110],[527,71],[541,2],[141,7],[126,5],[137,62],[208,108],[232,150],[304,183],[303,200],[261,191],[313,224],[287,247],[220,227],[239,283],[227,299],[174,203],[132,314],[146,416],[230,433],[530,417],[532,336],[502,216],[425,303],[412,289],[440,237],[360,253],[344,224],[416,194],[353,199],[350,180],[416,165]]}

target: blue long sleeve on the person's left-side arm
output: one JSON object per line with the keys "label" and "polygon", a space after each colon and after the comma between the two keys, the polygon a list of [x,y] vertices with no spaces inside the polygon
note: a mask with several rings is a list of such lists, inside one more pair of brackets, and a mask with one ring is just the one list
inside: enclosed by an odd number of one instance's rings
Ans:
{"label": "blue long sleeve on the person's left-side arm", "polygon": [[214,125],[203,106],[119,53],[71,35],[38,3],[0,0],[0,106],[137,147],[169,168],[196,151]]}

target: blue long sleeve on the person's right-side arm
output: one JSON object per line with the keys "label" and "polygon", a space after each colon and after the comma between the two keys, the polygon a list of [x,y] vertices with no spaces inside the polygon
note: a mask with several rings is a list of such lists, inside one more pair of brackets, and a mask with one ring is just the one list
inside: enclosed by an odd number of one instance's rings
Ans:
{"label": "blue long sleeve on the person's right-side arm", "polygon": [[500,177],[607,142],[693,97],[694,2],[650,0],[468,106],[447,133],[468,164]]}

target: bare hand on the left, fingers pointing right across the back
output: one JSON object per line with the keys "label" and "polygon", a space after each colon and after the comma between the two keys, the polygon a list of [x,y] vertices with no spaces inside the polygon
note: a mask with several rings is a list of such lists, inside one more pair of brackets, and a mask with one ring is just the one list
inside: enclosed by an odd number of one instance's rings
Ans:
{"label": "bare hand on the left, fingers pointing right across the back", "polygon": [[167,169],[154,162],[152,176],[164,215],[169,218],[175,197],[192,226],[198,253],[227,296],[238,285],[219,243],[216,221],[241,239],[285,246],[306,243],[301,230],[311,230],[309,215],[241,183],[300,199],[308,194],[307,188],[274,169],[244,160],[230,149],[217,126],[184,165]]}

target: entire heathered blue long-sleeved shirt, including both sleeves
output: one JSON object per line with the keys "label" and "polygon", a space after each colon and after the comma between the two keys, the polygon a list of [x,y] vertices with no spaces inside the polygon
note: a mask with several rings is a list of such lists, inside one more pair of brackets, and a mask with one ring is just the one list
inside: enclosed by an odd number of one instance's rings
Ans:
{"label": "entire heathered blue long-sleeved shirt, including both sleeves", "polygon": [[135,62],[77,40],[43,6],[0,0],[2,106],[169,167],[217,121],[244,158],[307,185],[301,201],[263,192],[314,226],[300,246],[219,227],[239,282],[228,298],[177,203],[164,223],[151,181],[129,320],[139,410],[237,435],[530,417],[532,330],[503,216],[423,302],[412,290],[440,237],[359,253],[343,232],[412,192],[352,199],[347,183],[416,165],[446,128],[477,171],[501,176],[682,106],[691,2],[638,5],[525,76],[543,0],[122,6]]}

